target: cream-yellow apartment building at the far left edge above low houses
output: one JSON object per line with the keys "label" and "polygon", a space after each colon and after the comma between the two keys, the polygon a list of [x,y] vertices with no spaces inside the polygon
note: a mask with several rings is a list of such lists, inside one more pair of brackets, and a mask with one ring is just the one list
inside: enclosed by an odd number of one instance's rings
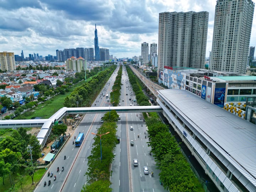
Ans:
{"label": "cream-yellow apartment building at the far left edge above low houses", "polygon": [[7,51],[0,52],[0,64],[2,71],[14,71],[16,70],[14,53]]}

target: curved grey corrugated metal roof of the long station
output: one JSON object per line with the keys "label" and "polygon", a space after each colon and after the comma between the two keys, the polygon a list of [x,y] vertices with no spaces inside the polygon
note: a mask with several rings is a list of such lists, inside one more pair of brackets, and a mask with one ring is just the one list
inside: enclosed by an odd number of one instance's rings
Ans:
{"label": "curved grey corrugated metal roof of the long station", "polygon": [[[159,90],[238,164],[256,177],[256,126],[186,90]],[[223,151],[222,151],[223,152]],[[238,165],[234,165],[238,167]]]}

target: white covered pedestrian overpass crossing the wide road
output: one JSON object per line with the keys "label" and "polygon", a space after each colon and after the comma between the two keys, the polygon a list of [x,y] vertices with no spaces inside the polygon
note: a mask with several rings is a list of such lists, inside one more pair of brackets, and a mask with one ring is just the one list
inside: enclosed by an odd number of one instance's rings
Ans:
{"label": "white covered pedestrian overpass crossing the wide road", "polygon": [[69,114],[86,114],[86,113],[107,113],[115,110],[117,113],[142,113],[142,112],[162,112],[160,106],[118,106],[118,107],[63,107],[49,119],[19,119],[19,120],[1,120],[0,128],[20,128],[20,127],[41,127],[37,135],[41,146],[46,143],[55,121],[59,121]]}

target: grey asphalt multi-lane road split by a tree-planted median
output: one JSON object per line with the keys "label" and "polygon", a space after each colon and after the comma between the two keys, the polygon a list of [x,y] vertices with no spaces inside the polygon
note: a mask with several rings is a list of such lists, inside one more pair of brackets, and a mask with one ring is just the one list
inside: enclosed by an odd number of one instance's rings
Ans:
{"label": "grey asphalt multi-lane road split by a tree-planted median", "polygon": [[[116,73],[113,73],[102,93],[110,95],[112,86],[116,79]],[[125,68],[123,68],[122,75],[122,89],[120,96],[121,106],[137,105],[133,100],[135,95],[129,84],[128,75]],[[127,94],[127,95],[126,95]],[[131,100],[129,98],[131,97]],[[124,100],[124,101],[122,101]],[[111,103],[107,102],[107,98],[101,94],[96,98],[92,105],[95,106],[109,106]],[[97,102],[98,101],[98,102]],[[111,165],[112,175],[110,178],[111,188],[113,192],[129,192],[129,191],[166,191],[159,184],[159,170],[156,169],[153,156],[149,155],[150,148],[148,142],[148,135],[146,126],[143,122],[142,113],[121,113],[121,120],[117,122],[117,135],[121,137],[120,143],[117,144],[114,151],[115,158]],[[53,171],[57,179],[53,181],[45,174],[34,191],[80,191],[82,186],[87,182],[85,172],[87,171],[87,157],[91,154],[92,144],[94,143],[91,134],[97,133],[97,128],[101,126],[101,117],[103,114],[86,114],[81,120],[79,126],[74,131],[73,135],[78,135],[79,132],[85,134],[84,142],[80,147],[73,145],[74,138],[70,138],[65,146],[59,151],[58,156],[49,167],[49,171]],[[129,127],[133,126],[133,130]],[[146,133],[146,134],[145,134]],[[137,135],[140,135],[138,138]],[[145,138],[146,135],[146,138]],[[134,145],[130,145],[130,140],[134,140]],[[64,155],[66,159],[64,160]],[[153,155],[153,154],[152,154]],[[133,159],[138,159],[138,166],[133,165]],[[64,166],[64,171],[61,167]],[[143,166],[148,166],[149,174],[145,175]],[[57,172],[59,167],[59,172]],[[151,177],[150,172],[154,172],[154,177]],[[51,179],[51,184],[48,186],[48,180]],[[44,186],[44,181],[47,185]]]}

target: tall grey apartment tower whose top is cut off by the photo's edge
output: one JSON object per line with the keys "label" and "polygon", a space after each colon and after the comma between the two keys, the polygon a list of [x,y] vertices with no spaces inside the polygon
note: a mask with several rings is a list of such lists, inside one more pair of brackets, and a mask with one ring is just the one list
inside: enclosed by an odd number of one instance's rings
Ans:
{"label": "tall grey apartment tower whose top is cut off by the photo's edge", "polygon": [[217,0],[210,69],[245,74],[254,2]]}

